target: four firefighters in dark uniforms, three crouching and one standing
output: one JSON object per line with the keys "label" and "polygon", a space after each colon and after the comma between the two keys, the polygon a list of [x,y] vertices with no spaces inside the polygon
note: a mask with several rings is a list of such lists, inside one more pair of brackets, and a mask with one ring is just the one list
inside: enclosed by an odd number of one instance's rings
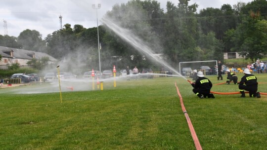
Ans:
{"label": "four firefighters in dark uniforms, three crouching and one standing", "polygon": [[[222,76],[222,63],[221,61],[218,61],[218,77],[217,79],[223,80]],[[194,74],[190,76],[193,81],[190,81],[190,84],[193,87],[193,92],[199,97],[199,98],[215,98],[212,93],[210,93],[211,88],[212,88],[212,82],[206,78],[203,75],[202,71],[194,70]],[[250,73],[250,70],[246,68],[244,70],[244,76],[241,78],[240,82],[238,83],[237,76],[230,72],[229,70],[226,70],[227,72],[227,80],[226,83],[230,84],[231,81],[234,82],[234,84],[239,84],[238,88],[241,93],[241,97],[246,97],[245,96],[245,90],[249,91],[249,96],[250,97],[257,97],[261,98],[260,92],[258,92],[258,82],[257,82],[257,77],[253,74]]]}

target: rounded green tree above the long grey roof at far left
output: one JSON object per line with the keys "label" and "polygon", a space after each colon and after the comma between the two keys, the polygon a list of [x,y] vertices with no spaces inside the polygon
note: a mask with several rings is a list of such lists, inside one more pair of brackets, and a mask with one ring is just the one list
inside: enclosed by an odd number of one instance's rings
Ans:
{"label": "rounded green tree above the long grey roof at far left", "polygon": [[21,32],[18,36],[18,43],[21,44],[21,49],[46,52],[45,40],[36,30],[26,29]]}

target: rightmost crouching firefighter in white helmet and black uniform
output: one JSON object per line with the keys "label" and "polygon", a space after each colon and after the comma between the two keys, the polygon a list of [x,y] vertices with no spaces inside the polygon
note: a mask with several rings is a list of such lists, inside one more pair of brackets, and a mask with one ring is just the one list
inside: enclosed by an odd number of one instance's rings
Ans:
{"label": "rightmost crouching firefighter in white helmet and black uniform", "polygon": [[[241,78],[241,81],[239,82],[239,91],[241,93],[241,97],[246,97],[245,92],[249,91],[249,97],[257,97],[261,98],[260,92],[258,91],[258,82],[257,77],[255,75],[252,75],[249,71],[249,69],[244,70],[244,76]],[[244,85],[244,83],[246,85]]]}

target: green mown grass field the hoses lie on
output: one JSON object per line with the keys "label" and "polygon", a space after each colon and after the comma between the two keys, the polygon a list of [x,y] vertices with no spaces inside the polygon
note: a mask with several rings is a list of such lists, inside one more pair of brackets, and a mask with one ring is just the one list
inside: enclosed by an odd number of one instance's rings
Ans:
{"label": "green mown grass field the hoses lie on", "polygon": [[[242,75],[238,75],[238,80]],[[267,74],[256,74],[265,82]],[[207,75],[213,84],[216,75]],[[190,78],[188,78],[190,79]],[[203,150],[267,150],[267,96],[198,99],[181,77],[117,81],[103,91],[10,94],[0,89],[1,150],[194,150],[175,82]],[[14,88],[27,88],[14,87]],[[212,91],[236,92],[238,85]],[[266,84],[259,91],[267,93]]]}

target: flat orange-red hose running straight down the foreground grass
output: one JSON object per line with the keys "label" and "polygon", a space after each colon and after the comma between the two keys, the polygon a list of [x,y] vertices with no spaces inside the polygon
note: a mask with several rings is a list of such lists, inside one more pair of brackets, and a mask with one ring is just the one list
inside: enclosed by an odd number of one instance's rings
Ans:
{"label": "flat orange-red hose running straight down the foreground grass", "polygon": [[[187,80],[187,81],[189,81],[189,80]],[[199,143],[199,140],[198,140],[198,138],[197,138],[195,129],[194,129],[194,127],[193,127],[193,125],[192,125],[192,122],[191,122],[191,120],[190,120],[190,118],[189,118],[189,115],[187,114],[187,112],[186,112],[186,110],[185,110],[185,107],[184,107],[184,105],[183,105],[182,97],[181,97],[181,94],[180,94],[180,92],[179,92],[179,89],[178,89],[178,86],[177,86],[176,82],[175,82],[175,86],[176,86],[176,89],[177,89],[178,96],[179,96],[179,98],[180,98],[180,103],[181,103],[182,112],[183,112],[184,115],[185,115],[185,118],[186,118],[186,121],[187,121],[189,130],[190,130],[190,132],[191,132],[191,136],[192,136],[192,138],[193,138],[193,140],[194,140],[194,144],[195,144],[196,150],[202,150],[201,145],[200,145],[200,143]]]}

